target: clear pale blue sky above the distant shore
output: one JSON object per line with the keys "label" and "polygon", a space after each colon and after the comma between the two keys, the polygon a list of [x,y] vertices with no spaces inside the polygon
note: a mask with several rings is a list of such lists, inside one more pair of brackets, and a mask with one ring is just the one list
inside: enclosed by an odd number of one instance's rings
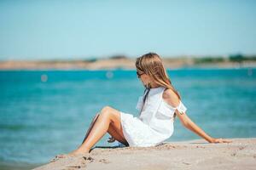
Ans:
{"label": "clear pale blue sky above the distant shore", "polygon": [[256,1],[0,0],[0,59],[256,54]]}

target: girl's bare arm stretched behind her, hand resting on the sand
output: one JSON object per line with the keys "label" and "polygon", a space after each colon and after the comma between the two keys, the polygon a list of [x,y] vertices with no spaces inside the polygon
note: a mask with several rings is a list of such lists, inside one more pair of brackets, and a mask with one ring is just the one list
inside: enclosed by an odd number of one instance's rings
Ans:
{"label": "girl's bare arm stretched behind her, hand resting on the sand", "polygon": [[176,114],[183,123],[184,127],[187,127],[192,132],[198,134],[203,139],[206,139],[209,143],[230,143],[231,140],[228,139],[214,139],[211,136],[209,136],[207,133],[205,133],[200,127],[198,127],[195,122],[193,122],[189,116],[187,116],[186,112],[180,113],[176,110]]}

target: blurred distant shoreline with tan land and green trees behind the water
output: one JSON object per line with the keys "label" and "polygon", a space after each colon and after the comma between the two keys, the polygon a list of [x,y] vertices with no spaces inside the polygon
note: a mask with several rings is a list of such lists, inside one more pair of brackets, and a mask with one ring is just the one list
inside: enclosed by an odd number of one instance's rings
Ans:
{"label": "blurred distant shoreline with tan land and green trees behind the water", "polygon": [[[180,68],[256,68],[256,57],[162,58],[166,69]],[[0,71],[8,70],[135,70],[136,59],[114,57],[78,60],[3,60]]]}

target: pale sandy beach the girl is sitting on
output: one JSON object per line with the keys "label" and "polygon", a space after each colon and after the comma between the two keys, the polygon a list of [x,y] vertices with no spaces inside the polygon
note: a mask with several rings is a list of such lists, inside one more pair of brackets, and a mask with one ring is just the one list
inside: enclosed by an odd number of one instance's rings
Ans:
{"label": "pale sandy beach the girl is sitting on", "polygon": [[256,138],[231,140],[211,144],[195,139],[146,148],[96,147],[90,154],[49,160],[34,169],[255,169]]}

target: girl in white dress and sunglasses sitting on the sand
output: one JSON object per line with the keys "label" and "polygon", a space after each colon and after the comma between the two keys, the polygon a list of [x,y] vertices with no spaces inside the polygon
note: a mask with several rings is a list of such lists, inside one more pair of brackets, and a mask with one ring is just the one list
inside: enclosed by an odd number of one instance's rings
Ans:
{"label": "girl in white dress and sunglasses sitting on the sand", "polygon": [[177,116],[184,127],[206,139],[209,143],[229,143],[228,139],[215,139],[205,133],[186,115],[187,108],[181,96],[173,88],[166,73],[162,59],[158,54],[148,53],[136,60],[137,77],[145,87],[143,96],[139,97],[138,117],[117,111],[110,106],[102,108],[84,137],[79,148],[67,155],[75,156],[89,153],[90,149],[105,133],[112,137],[108,142],[118,140],[126,146],[154,146],[170,138],[173,133],[173,122]]}

